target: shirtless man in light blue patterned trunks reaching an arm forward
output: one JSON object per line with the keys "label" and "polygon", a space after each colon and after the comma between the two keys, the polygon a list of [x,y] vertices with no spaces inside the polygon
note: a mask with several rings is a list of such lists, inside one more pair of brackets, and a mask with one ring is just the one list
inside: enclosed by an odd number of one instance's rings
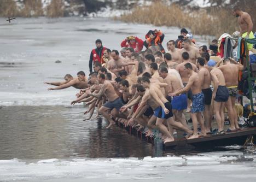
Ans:
{"label": "shirtless man in light blue patterned trunks reaching an arm forward", "polygon": [[201,126],[201,136],[206,136],[205,122],[202,119],[202,111],[205,110],[205,96],[202,93],[202,83],[199,74],[193,71],[191,63],[184,64],[184,71],[187,72],[190,77],[188,84],[181,90],[171,93],[171,96],[178,96],[181,93],[187,92],[190,88],[193,93],[193,103],[191,108],[191,118],[193,121],[194,132],[188,139],[198,138],[197,123]]}

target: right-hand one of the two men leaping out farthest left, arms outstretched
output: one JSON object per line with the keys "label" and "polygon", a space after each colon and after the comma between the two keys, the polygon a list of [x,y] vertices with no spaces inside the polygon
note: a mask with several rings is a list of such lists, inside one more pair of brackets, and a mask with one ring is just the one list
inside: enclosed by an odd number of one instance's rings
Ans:
{"label": "right-hand one of the two men leaping out farthest left, arms outstretched", "polygon": [[68,83],[59,85],[54,88],[49,88],[48,90],[61,90],[71,86],[75,87],[75,89],[86,89],[88,87],[88,79],[83,71],[78,72],[77,78],[68,81]]}

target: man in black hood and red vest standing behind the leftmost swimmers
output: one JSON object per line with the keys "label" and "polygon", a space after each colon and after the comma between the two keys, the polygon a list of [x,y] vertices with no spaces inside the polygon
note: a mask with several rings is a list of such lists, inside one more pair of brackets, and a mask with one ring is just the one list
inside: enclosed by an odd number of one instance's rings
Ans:
{"label": "man in black hood and red vest standing behind the leftmost swimmers", "polygon": [[89,60],[89,68],[90,68],[90,73],[92,73],[92,62],[100,62],[101,64],[105,63],[103,60],[103,52],[107,48],[102,46],[102,42],[100,39],[97,39],[96,42],[96,49],[92,49],[91,55],[90,55],[90,60]]}

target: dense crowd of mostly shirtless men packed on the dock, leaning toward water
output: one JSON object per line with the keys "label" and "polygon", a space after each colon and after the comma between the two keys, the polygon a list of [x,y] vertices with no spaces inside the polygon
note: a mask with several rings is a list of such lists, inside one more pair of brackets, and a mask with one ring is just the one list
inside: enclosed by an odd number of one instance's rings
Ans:
{"label": "dense crowd of mostly shirtless men packed on the dock, leaning toward water", "polygon": [[[71,104],[89,105],[87,119],[97,107],[95,117],[101,114],[108,122],[107,128],[115,120],[126,126],[147,128],[147,136],[158,128],[164,143],[174,140],[174,130],[184,131],[188,139],[206,136],[211,132],[213,115],[218,126],[216,134],[240,130],[235,102],[238,72],[243,65],[231,57],[220,58],[218,40],[212,40],[210,50],[206,45],[198,48],[184,31],[187,30],[182,29],[181,40],[167,42],[168,51],[160,46],[164,33],[157,30],[147,33],[144,51],[143,41],[135,36],[121,43],[120,53],[104,48],[97,39],[97,48],[90,56],[89,78],[80,71],[78,78],[67,74],[63,82],[46,84],[57,86],[49,90],[69,86],[81,89]],[[224,107],[230,120],[228,131],[224,131]],[[185,111],[190,113],[192,129]]]}

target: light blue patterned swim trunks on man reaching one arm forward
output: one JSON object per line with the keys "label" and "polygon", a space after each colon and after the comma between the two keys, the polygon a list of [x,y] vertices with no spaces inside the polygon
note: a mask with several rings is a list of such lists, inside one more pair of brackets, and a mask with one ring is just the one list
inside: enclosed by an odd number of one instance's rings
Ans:
{"label": "light blue patterned swim trunks on man reaching one arm forward", "polygon": [[203,110],[205,110],[205,95],[201,92],[192,97],[191,113],[200,113]]}

